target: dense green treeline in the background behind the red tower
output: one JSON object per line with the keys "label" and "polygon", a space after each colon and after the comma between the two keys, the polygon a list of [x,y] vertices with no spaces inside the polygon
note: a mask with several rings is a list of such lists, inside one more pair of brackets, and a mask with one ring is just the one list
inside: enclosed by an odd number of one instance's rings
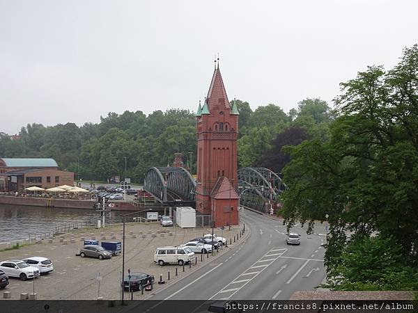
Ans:
{"label": "dense green treeline in the background behind the red tower", "polygon": [[[309,136],[326,136],[332,119],[330,107],[320,99],[305,99],[288,114],[274,104],[252,111],[247,102],[235,101],[240,111],[240,166],[259,163],[280,172],[288,155],[283,156],[279,147],[300,143]],[[287,138],[273,141],[283,131],[293,142]],[[53,127],[32,124],[22,127],[19,137],[12,140],[0,134],[1,157],[54,158],[61,168],[78,173],[82,179],[125,177],[126,161],[126,177],[141,183],[148,168],[171,164],[175,152],[183,152],[185,166],[191,161],[196,171],[196,118],[187,110],[155,111],[148,116],[141,111],[109,113],[100,123],[82,127],[73,123]],[[279,167],[274,156],[263,159],[263,153],[274,145],[277,156],[283,159]]]}

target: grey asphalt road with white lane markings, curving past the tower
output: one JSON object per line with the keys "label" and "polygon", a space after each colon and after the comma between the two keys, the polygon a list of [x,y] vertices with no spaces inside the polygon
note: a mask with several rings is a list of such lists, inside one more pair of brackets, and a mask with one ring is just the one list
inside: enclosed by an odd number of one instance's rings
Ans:
{"label": "grey asphalt road with white lane markings, curving past the tower", "polygon": [[[242,245],[180,282],[162,289],[150,300],[288,299],[294,291],[312,290],[325,278],[325,236],[294,227],[300,246],[286,244],[286,227],[252,211],[241,214],[251,230]],[[316,227],[322,230],[323,225]],[[196,311],[199,308],[196,308]]]}

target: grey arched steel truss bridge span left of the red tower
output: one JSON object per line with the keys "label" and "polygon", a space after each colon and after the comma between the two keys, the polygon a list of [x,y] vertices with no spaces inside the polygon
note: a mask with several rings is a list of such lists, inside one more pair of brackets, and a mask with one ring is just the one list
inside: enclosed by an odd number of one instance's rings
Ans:
{"label": "grey arched steel truss bridge span left of the red tower", "polygon": [[195,205],[196,180],[185,168],[149,168],[144,179],[144,190],[163,205]]}

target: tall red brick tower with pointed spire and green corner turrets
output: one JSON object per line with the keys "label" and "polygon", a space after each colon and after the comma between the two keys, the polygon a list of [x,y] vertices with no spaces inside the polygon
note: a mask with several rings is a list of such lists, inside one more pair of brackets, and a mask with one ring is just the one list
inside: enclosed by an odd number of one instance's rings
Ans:
{"label": "tall red brick tower with pointed spire and green corner turrets", "polygon": [[219,64],[197,120],[196,210],[212,214],[215,227],[238,224],[238,109],[229,105]]}

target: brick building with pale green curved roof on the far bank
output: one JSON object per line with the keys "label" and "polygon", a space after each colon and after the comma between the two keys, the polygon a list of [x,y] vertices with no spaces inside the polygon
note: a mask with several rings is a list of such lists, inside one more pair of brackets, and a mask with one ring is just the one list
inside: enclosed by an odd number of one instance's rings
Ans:
{"label": "brick building with pale green curved roof on the far bank", "polygon": [[54,159],[0,159],[0,191],[22,191],[38,186],[74,185],[74,173],[59,170]]}

